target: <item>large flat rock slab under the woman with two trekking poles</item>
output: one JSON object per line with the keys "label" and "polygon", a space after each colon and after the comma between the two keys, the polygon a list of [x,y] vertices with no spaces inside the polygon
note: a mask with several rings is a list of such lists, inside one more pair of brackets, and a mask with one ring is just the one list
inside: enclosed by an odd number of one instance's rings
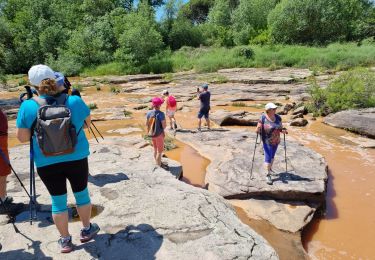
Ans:
{"label": "large flat rock slab under the woman with two trekking poles", "polygon": [[285,171],[284,148],[281,144],[275,156],[273,185],[266,183],[261,144],[257,145],[251,174],[256,140],[253,132],[179,132],[176,138],[211,160],[205,179],[208,189],[225,198],[266,196],[281,200],[324,202],[328,178],[324,158],[288,138],[288,172]]}

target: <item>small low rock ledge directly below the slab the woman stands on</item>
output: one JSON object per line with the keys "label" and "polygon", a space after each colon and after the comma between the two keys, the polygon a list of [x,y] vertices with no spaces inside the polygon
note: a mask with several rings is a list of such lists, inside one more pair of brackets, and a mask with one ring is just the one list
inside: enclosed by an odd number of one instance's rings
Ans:
{"label": "small low rock ledge directly below the slab the woman stands on", "polygon": [[252,219],[263,219],[279,230],[296,233],[313,218],[316,207],[303,202],[280,202],[275,200],[247,199],[230,200],[233,206],[241,207]]}

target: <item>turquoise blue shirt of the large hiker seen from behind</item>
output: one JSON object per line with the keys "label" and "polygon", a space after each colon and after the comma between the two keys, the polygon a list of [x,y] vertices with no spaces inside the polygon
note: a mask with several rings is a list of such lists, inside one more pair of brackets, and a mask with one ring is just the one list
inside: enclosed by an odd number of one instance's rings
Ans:
{"label": "turquoise blue shirt of the large hiker seen from behind", "polygon": [[[40,96],[46,98],[47,96]],[[90,115],[90,109],[86,106],[83,100],[78,96],[69,96],[65,105],[71,110],[72,123],[78,132],[83,127],[84,120]],[[17,115],[17,128],[31,128],[31,125],[37,117],[39,105],[34,100],[25,100],[22,102],[20,110]],[[77,145],[74,152],[71,154],[64,154],[58,156],[44,156],[39,148],[35,136],[33,137],[34,144],[34,161],[36,167],[43,167],[55,163],[76,161],[86,158],[89,154],[89,143],[87,141],[83,129],[77,136]]]}

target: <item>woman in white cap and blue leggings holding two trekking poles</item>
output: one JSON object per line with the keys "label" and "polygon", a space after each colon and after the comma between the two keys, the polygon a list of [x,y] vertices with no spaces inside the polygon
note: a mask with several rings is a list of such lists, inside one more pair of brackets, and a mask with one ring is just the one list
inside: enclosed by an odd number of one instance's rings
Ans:
{"label": "woman in white cap and blue leggings holding two trekking poles", "polygon": [[261,135],[264,148],[264,164],[267,174],[267,184],[272,185],[271,171],[277,147],[280,143],[280,133],[287,134],[283,128],[281,116],[276,114],[277,106],[267,103],[266,113],[259,118],[256,132]]}

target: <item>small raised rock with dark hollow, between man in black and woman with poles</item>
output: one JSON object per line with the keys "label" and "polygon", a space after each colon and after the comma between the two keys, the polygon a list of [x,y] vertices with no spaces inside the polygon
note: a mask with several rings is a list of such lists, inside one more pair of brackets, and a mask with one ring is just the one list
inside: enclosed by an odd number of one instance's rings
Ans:
{"label": "small raised rock with dark hollow, between man in black and woman with poles", "polygon": [[217,110],[210,114],[210,119],[219,126],[256,126],[261,113],[250,113],[246,111]]}

